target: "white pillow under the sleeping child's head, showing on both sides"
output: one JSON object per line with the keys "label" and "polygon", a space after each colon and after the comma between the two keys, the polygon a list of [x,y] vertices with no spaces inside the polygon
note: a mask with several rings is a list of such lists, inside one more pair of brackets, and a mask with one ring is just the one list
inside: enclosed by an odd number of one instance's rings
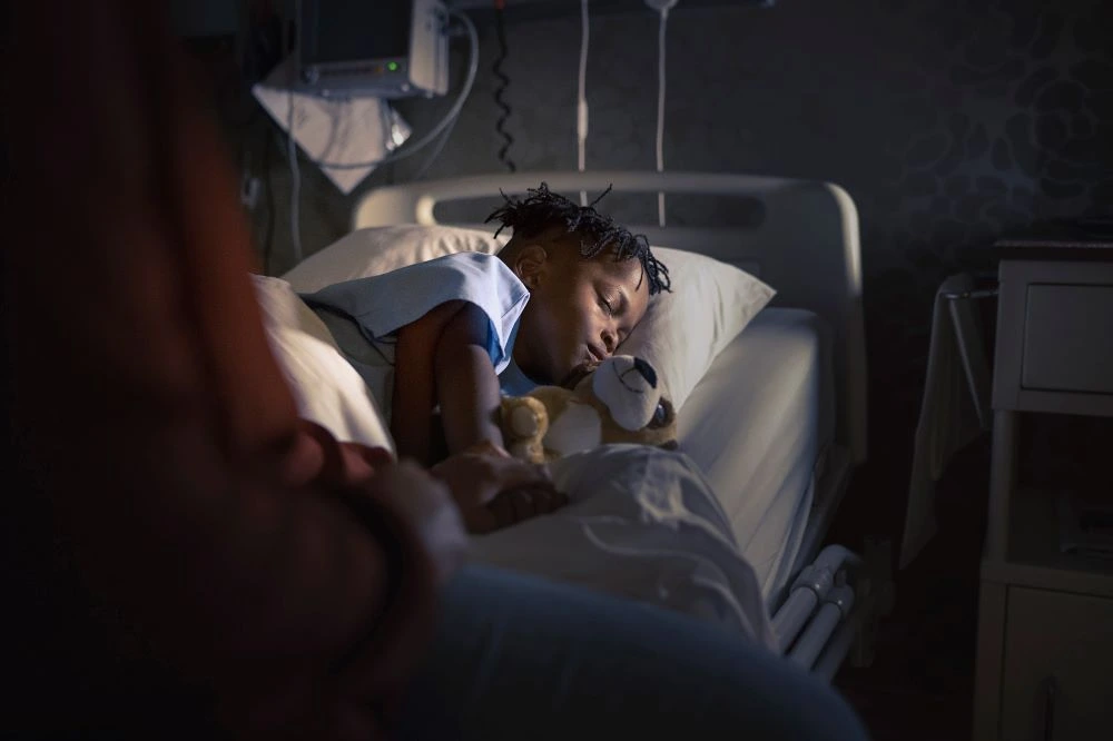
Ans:
{"label": "white pillow under the sleeping child's head, showing on both sides", "polygon": [[[359,229],[283,276],[295,290],[325,286],[464,250],[496,253],[502,240],[444,226]],[[654,247],[669,268],[672,292],[654,296],[622,352],[648,360],[679,409],[711,362],[772,299],[772,288],[731,265],[680,249]]]}

